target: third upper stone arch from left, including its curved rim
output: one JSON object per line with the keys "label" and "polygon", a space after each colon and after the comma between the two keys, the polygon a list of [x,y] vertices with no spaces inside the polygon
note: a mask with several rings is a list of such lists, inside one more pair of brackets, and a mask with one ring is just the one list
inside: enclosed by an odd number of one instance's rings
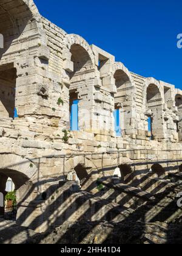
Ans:
{"label": "third upper stone arch from left, including its curved rim", "polygon": [[[129,70],[121,62],[115,62],[113,65],[113,78],[115,80],[115,119],[117,115],[117,123],[115,124],[115,131],[122,130],[122,134],[131,135],[132,129],[134,129],[135,122],[133,121],[133,105],[135,104],[135,82],[129,72]],[[116,123],[116,120],[115,120]],[[130,132],[127,132],[130,130]],[[119,135],[119,134],[118,134]]]}

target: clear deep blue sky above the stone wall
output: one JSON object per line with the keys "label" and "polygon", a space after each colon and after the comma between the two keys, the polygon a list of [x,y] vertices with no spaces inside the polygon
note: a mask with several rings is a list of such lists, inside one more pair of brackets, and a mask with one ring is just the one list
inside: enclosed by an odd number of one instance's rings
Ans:
{"label": "clear deep blue sky above the stone wall", "polygon": [[181,0],[35,0],[39,12],[69,34],[115,55],[142,76],[182,89]]}

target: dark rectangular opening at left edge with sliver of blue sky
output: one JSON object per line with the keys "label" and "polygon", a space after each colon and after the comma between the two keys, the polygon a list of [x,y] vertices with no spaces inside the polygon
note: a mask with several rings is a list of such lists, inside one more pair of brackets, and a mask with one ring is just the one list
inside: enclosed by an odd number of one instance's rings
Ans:
{"label": "dark rectangular opening at left edge with sliver of blue sky", "polygon": [[16,68],[13,63],[0,66],[0,118],[16,118]]}

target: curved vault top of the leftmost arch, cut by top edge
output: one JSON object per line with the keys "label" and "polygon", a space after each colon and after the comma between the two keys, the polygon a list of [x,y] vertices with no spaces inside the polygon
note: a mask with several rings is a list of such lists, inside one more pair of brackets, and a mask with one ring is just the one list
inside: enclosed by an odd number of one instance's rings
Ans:
{"label": "curved vault top of the leftmost arch, cut by top edge", "polygon": [[[41,23],[41,15],[39,15],[33,0],[12,0],[11,3],[8,0],[4,0],[0,3],[0,12],[0,23],[3,24],[3,26],[0,26],[0,34],[4,37],[4,49],[0,49],[0,60],[3,56],[4,62],[8,62],[5,54],[7,50],[8,54],[10,54],[12,41],[14,41],[12,46],[13,53],[15,51],[15,43],[16,45],[19,44],[19,46],[16,47],[17,52],[22,49],[20,40],[24,41],[25,37],[27,40],[27,35],[24,35],[24,30],[27,23],[30,23],[30,20],[33,26],[36,27],[37,32],[39,32],[39,35],[45,37]],[[33,29],[32,33],[35,34],[35,29]],[[16,40],[18,40],[18,42]],[[41,42],[44,44],[44,40],[41,40]],[[1,62],[2,60],[0,63]]]}

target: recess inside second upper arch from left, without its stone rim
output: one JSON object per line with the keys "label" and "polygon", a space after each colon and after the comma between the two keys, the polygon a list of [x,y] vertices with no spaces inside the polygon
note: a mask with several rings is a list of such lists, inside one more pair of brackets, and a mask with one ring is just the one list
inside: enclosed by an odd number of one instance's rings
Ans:
{"label": "recess inside second upper arch from left, without its stone rim", "polygon": [[89,87],[92,86],[92,83],[89,84],[89,73],[93,71],[93,65],[89,53],[79,44],[73,44],[70,53],[71,62],[73,63],[73,72],[69,73],[70,129],[83,130],[90,123],[86,122],[86,119],[89,119],[87,115],[90,115],[90,112],[87,111],[86,113],[85,110],[88,110],[91,99]]}

